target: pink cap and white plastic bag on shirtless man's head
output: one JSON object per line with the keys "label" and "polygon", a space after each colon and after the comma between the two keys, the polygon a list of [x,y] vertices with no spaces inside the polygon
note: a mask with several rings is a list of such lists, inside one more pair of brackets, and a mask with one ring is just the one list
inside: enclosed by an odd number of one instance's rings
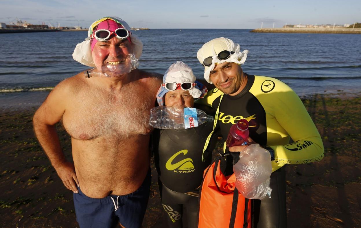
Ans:
{"label": "pink cap and white plastic bag on shirtless man's head", "polygon": [[[79,63],[86,65],[86,66],[95,67],[95,64],[94,64],[93,58],[92,58],[92,54],[91,54],[93,43],[91,42],[91,39],[89,39],[89,37],[93,33],[94,30],[100,29],[98,27],[103,27],[103,24],[100,25],[100,23],[102,23],[103,21],[106,21],[106,20],[114,21],[114,22],[112,22],[112,26],[111,26],[112,29],[109,29],[109,30],[113,30],[113,28],[117,28],[117,26],[119,26],[118,24],[120,24],[120,26],[122,26],[123,28],[125,28],[126,30],[128,30],[130,32],[130,26],[127,24],[127,22],[123,21],[119,17],[100,18],[99,20],[93,22],[91,24],[91,26],[89,27],[88,38],[85,41],[83,41],[82,43],[78,43],[77,46],[75,47],[74,52],[73,52],[73,59],[75,61],[78,61]],[[97,25],[100,25],[100,26],[97,27]],[[105,23],[105,25],[107,25],[107,23]],[[108,26],[106,27],[106,29],[108,29]],[[131,47],[132,47],[133,54],[135,55],[136,59],[139,59],[140,56],[142,55],[143,43],[139,40],[138,36],[136,36],[134,34],[130,34],[129,38],[131,40]]]}

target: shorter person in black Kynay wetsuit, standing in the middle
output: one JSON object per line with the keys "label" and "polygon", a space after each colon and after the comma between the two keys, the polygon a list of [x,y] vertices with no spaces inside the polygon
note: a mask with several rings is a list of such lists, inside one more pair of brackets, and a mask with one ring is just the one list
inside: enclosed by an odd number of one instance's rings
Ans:
{"label": "shorter person in black Kynay wetsuit, standing in the middle", "polygon": [[[193,107],[194,98],[207,93],[206,87],[195,79],[191,68],[183,62],[172,64],[158,90],[158,104],[179,109]],[[215,140],[211,139],[204,153],[203,147],[212,129],[213,122],[206,122],[194,128],[153,132],[158,185],[169,227],[197,225],[198,189],[203,171],[211,163]],[[183,225],[182,220],[187,224]]]}

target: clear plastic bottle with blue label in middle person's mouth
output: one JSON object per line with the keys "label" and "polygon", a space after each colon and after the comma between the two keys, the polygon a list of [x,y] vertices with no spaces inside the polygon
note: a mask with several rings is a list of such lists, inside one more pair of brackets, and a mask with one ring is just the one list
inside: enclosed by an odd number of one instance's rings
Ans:
{"label": "clear plastic bottle with blue label in middle person's mouth", "polygon": [[159,129],[187,129],[213,120],[213,116],[208,116],[201,109],[159,106],[151,109],[149,125]]}

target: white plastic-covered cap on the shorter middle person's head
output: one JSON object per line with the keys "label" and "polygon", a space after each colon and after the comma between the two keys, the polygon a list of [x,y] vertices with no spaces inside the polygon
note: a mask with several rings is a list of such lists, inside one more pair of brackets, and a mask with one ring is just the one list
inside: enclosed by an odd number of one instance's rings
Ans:
{"label": "white plastic-covered cap on the shorter middle person's head", "polygon": [[[192,95],[193,98],[203,98],[208,92],[205,85],[196,81],[196,76],[194,76],[192,69],[182,61],[173,63],[168,70],[166,70],[163,76],[163,83],[166,82],[195,82],[196,85],[188,90],[189,94]],[[157,102],[159,106],[164,106],[164,95],[168,92],[169,90],[163,86],[159,88],[157,92]]]}

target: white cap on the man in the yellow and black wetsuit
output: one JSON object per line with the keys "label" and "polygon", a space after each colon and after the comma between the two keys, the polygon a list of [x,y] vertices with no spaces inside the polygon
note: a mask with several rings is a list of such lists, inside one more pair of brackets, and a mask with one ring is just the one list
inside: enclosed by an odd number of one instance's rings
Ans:
{"label": "white cap on the man in the yellow and black wetsuit", "polygon": [[[234,53],[227,59],[218,59],[218,53],[225,50],[233,51]],[[239,44],[234,43],[228,38],[220,37],[203,44],[197,52],[197,59],[203,64],[205,58],[212,57],[212,65],[204,66],[204,78],[208,83],[212,84],[212,81],[209,79],[209,73],[214,69],[216,64],[225,62],[243,64],[247,59],[247,53],[248,50],[240,52]]]}

